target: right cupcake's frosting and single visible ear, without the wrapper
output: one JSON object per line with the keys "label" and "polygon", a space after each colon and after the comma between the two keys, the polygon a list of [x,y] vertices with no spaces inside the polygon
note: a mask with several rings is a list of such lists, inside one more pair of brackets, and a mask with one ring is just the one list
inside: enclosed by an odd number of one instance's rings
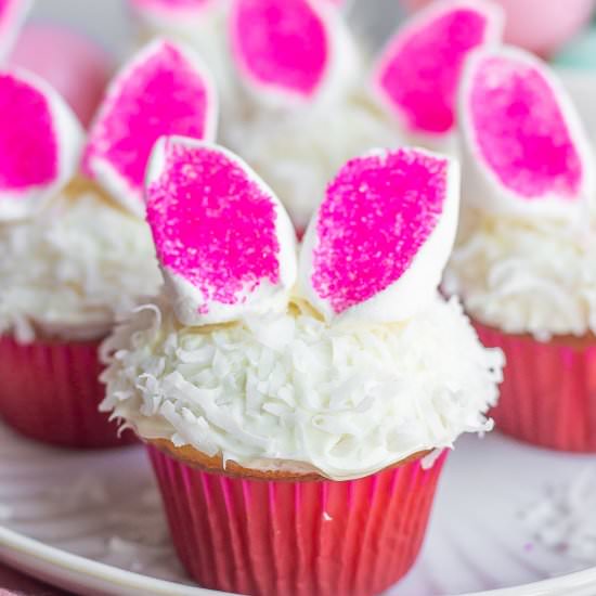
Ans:
{"label": "right cupcake's frosting and single visible ear, without the wrapper", "polygon": [[466,208],[445,289],[508,333],[596,331],[594,156],[537,59],[478,52],[461,92]]}

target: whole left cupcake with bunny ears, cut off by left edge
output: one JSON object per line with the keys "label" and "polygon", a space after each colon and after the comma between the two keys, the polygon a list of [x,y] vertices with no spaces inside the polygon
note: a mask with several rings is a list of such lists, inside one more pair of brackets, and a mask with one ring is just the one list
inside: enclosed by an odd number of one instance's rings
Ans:
{"label": "whole left cupcake with bunny ears, cut off by left edge", "polygon": [[155,42],[114,79],[87,139],[41,79],[4,72],[0,88],[0,417],[50,443],[120,444],[98,412],[98,347],[163,282],[144,168],[164,133],[211,138],[209,78]]}

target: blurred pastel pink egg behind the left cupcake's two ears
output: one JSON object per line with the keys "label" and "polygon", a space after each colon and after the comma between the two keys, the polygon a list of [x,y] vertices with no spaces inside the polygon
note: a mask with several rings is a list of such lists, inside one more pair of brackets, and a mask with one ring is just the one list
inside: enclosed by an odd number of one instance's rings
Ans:
{"label": "blurred pastel pink egg behind the left cupcake's two ears", "polygon": [[51,24],[27,25],[9,64],[47,80],[89,126],[113,70],[113,59],[99,44],[77,33]]}

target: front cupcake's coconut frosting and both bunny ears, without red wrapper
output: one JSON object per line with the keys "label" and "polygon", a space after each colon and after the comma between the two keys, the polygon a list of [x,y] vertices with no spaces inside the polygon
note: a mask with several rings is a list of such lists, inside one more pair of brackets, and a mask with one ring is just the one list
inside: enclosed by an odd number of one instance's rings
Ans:
{"label": "front cupcake's coconut frosting and both bunny ears, without red wrapper", "polygon": [[278,199],[216,145],[161,140],[146,199],[165,291],[104,344],[102,405],[144,439],[341,480],[491,428],[501,352],[437,291],[454,161],[348,161],[298,258]]}

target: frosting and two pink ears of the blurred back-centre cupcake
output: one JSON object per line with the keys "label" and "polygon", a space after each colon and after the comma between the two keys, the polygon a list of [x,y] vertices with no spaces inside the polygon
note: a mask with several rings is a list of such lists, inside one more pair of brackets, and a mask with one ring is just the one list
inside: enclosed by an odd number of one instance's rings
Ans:
{"label": "frosting and two pink ears of the blurred back-centre cupcake", "polygon": [[[332,44],[328,57],[323,42],[319,54],[284,52],[283,36],[276,46],[275,35],[250,33],[250,27],[267,26],[273,34],[282,29],[271,11],[232,20],[232,30],[243,34],[234,43],[235,62],[256,101],[244,119],[226,128],[225,140],[271,183],[299,231],[333,173],[370,147],[414,142],[457,155],[455,98],[464,62],[475,48],[496,42],[501,35],[502,15],[494,5],[440,2],[400,26],[368,69],[358,52],[348,51],[355,43],[337,10],[326,9],[320,27],[326,27],[336,47],[344,47],[335,51],[340,61],[334,59]],[[288,18],[293,16],[288,7]],[[254,38],[261,44],[252,43]],[[311,38],[305,36],[306,47]],[[294,39],[286,41],[296,44]],[[270,56],[286,54],[295,62],[275,69],[278,65]],[[280,73],[277,93],[262,80],[272,73]]]}

